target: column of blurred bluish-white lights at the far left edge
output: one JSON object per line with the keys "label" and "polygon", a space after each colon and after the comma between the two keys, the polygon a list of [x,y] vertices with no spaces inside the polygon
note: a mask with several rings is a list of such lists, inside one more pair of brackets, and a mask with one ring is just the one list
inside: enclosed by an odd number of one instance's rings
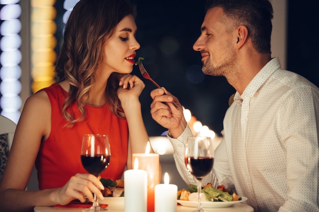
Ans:
{"label": "column of blurred bluish-white lights at the far left edge", "polygon": [[19,1],[0,1],[0,107],[1,115],[4,115],[17,123],[20,117],[20,107],[22,105],[19,96],[21,92],[21,22],[18,19],[21,15]]}

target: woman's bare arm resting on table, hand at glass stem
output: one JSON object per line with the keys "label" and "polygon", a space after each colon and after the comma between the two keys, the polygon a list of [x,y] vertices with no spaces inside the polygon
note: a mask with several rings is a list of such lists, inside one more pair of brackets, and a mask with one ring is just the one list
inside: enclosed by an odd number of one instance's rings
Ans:
{"label": "woman's bare arm resting on table, hand at glass stem", "polygon": [[[45,92],[25,102],[16,128],[5,172],[0,183],[0,208],[3,211],[33,211],[34,206],[67,204],[73,199],[93,199],[101,195],[102,184],[90,174],[76,174],[58,189],[25,191],[41,144],[50,134],[51,106]],[[99,189],[97,188],[99,187]]]}

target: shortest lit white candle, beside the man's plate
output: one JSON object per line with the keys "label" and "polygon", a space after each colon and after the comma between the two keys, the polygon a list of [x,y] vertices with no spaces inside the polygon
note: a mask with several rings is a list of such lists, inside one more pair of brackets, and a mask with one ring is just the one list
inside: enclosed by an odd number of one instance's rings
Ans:
{"label": "shortest lit white candle, beside the man's plate", "polygon": [[168,173],[165,173],[164,184],[155,186],[155,212],[176,212],[177,186],[169,184]]}

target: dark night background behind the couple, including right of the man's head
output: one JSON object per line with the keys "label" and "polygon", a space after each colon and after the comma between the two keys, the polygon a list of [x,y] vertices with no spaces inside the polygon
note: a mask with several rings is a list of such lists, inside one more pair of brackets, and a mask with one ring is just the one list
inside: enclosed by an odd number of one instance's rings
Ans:
{"label": "dark night background behind the couple, including right of the man's head", "polygon": [[[56,3],[58,28],[64,13],[59,2]],[[203,125],[220,133],[228,99],[235,90],[224,77],[203,75],[200,53],[192,48],[200,35],[205,0],[135,2],[138,9],[137,40],[141,44],[137,54],[145,58],[146,70],[159,85],[178,97]],[[281,63],[319,86],[319,16],[315,1],[288,2],[287,61],[281,60]],[[132,74],[142,77],[137,66]],[[150,115],[150,92],[155,86],[148,80],[144,82],[146,87],[140,97],[144,122],[149,136],[158,136],[166,129]]]}

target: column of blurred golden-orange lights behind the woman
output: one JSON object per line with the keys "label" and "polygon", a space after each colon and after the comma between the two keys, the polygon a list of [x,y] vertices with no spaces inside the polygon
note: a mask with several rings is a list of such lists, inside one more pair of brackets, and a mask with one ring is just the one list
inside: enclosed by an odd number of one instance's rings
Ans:
{"label": "column of blurred golden-orange lights behind the woman", "polygon": [[54,64],[57,60],[54,50],[57,45],[54,36],[57,31],[55,3],[55,0],[31,1],[31,88],[34,93],[54,82]]}

